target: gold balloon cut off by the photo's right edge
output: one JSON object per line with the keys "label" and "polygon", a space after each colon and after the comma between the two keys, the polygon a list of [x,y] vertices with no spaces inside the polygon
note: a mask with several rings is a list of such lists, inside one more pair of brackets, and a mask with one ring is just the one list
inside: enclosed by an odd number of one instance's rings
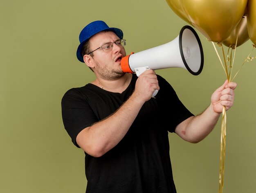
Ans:
{"label": "gold balloon cut off by the photo's right edge", "polygon": [[249,38],[256,44],[256,1],[248,0],[247,4],[247,27]]}

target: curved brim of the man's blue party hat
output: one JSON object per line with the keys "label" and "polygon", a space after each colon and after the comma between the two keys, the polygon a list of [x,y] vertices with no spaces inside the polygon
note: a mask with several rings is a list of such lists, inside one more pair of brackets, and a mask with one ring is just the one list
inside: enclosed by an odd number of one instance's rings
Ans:
{"label": "curved brim of the man's blue party hat", "polygon": [[[118,28],[106,28],[106,29],[102,29],[101,31],[105,31],[105,30],[109,30],[114,32],[120,39],[123,39],[123,31],[121,31],[121,29]],[[90,35],[87,39],[83,40],[83,42],[81,42],[77,48],[76,51],[76,57],[77,59],[79,59],[79,61],[83,62],[83,54],[82,54],[82,50],[83,50],[83,45],[85,44],[85,42],[88,41],[88,39],[90,39],[93,35],[101,32],[101,31],[97,31],[96,33],[93,33],[92,35]]]}

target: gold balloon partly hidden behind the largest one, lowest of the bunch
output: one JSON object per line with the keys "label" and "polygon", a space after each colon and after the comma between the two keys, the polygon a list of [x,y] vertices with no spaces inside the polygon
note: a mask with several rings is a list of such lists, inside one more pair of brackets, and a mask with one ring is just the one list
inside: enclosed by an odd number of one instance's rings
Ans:
{"label": "gold balloon partly hidden behind the largest one, lowest of the bunch", "polygon": [[245,43],[248,39],[249,35],[247,30],[247,16],[243,16],[243,18],[241,18],[236,28],[231,32],[229,37],[225,39],[222,43],[227,47],[238,47]]}

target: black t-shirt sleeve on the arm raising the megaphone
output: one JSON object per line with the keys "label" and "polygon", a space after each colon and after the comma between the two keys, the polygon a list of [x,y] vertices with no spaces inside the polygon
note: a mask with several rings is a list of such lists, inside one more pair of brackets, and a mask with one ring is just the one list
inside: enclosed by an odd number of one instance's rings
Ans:
{"label": "black t-shirt sleeve on the arm raising the megaphone", "polygon": [[76,136],[86,127],[97,122],[92,108],[83,95],[76,89],[68,90],[61,100],[63,125],[76,147]]}

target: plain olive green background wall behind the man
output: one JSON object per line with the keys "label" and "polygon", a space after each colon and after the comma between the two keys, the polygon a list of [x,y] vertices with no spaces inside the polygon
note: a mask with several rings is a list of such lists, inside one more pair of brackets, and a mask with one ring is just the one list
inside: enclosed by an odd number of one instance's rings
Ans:
{"label": "plain olive green background wall behind the man", "polygon": [[[85,192],[84,153],[63,127],[61,98],[94,79],[76,59],[79,33],[94,20],[124,31],[127,54],[170,42],[187,25],[165,0],[0,0],[0,192]],[[204,49],[200,75],[183,68],[156,71],[194,114],[209,105],[212,92],[226,79],[213,45],[198,35]],[[250,40],[237,48],[233,75],[251,50]],[[225,193],[256,192],[255,72],[253,60],[234,80],[238,87],[227,111]],[[178,193],[219,191],[220,121],[198,144],[169,134]]]}

